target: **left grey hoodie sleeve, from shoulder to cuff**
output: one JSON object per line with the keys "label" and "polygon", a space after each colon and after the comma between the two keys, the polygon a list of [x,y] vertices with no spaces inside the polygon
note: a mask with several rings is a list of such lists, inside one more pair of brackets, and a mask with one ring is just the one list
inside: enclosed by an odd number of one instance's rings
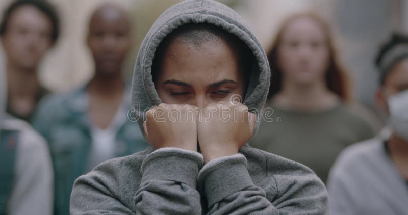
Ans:
{"label": "left grey hoodie sleeve, from shoulder to cuff", "polygon": [[200,154],[162,148],[140,160],[141,168],[120,160],[100,164],[75,181],[71,214],[201,214]]}

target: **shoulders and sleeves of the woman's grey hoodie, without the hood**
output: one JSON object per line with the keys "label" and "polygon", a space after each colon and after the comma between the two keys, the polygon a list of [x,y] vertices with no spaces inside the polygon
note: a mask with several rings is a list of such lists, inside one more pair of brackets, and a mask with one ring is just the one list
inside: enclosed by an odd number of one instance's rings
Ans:
{"label": "shoulders and sleeves of the woman's grey hoodie, without the hood", "polygon": [[240,153],[201,172],[198,155],[176,148],[108,160],[77,179],[71,214],[328,214],[326,189],[309,168],[248,145]]}

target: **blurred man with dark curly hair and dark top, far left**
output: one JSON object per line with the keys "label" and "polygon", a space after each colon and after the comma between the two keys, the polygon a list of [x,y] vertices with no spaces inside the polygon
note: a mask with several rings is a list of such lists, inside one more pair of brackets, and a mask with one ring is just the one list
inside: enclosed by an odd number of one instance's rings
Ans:
{"label": "blurred man with dark curly hair and dark top, far left", "polygon": [[30,121],[37,102],[48,93],[39,83],[38,67],[58,33],[57,13],[44,0],[17,0],[4,11],[0,36],[7,58],[9,114]]}

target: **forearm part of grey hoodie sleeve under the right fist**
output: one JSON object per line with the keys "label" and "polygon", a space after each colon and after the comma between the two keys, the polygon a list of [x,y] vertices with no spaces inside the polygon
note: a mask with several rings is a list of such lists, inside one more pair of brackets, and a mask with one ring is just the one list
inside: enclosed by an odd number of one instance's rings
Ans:
{"label": "forearm part of grey hoodie sleeve under the right fist", "polygon": [[279,214],[265,191],[253,184],[242,154],[211,160],[200,171],[198,183],[208,214]]}

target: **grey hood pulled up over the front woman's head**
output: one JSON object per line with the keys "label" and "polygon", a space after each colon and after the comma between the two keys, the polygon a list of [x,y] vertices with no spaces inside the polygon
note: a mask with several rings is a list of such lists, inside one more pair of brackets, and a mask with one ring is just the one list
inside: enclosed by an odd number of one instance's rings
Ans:
{"label": "grey hood pulled up over the front woman's head", "polygon": [[145,112],[161,102],[151,76],[151,67],[156,49],[173,30],[189,23],[208,23],[235,35],[253,53],[253,65],[243,104],[256,111],[257,124],[266,101],[270,83],[270,69],[265,51],[251,33],[243,19],[231,8],[213,0],[187,0],[168,8],[151,26],[144,38],[136,59],[132,84],[132,112],[143,132]]}

